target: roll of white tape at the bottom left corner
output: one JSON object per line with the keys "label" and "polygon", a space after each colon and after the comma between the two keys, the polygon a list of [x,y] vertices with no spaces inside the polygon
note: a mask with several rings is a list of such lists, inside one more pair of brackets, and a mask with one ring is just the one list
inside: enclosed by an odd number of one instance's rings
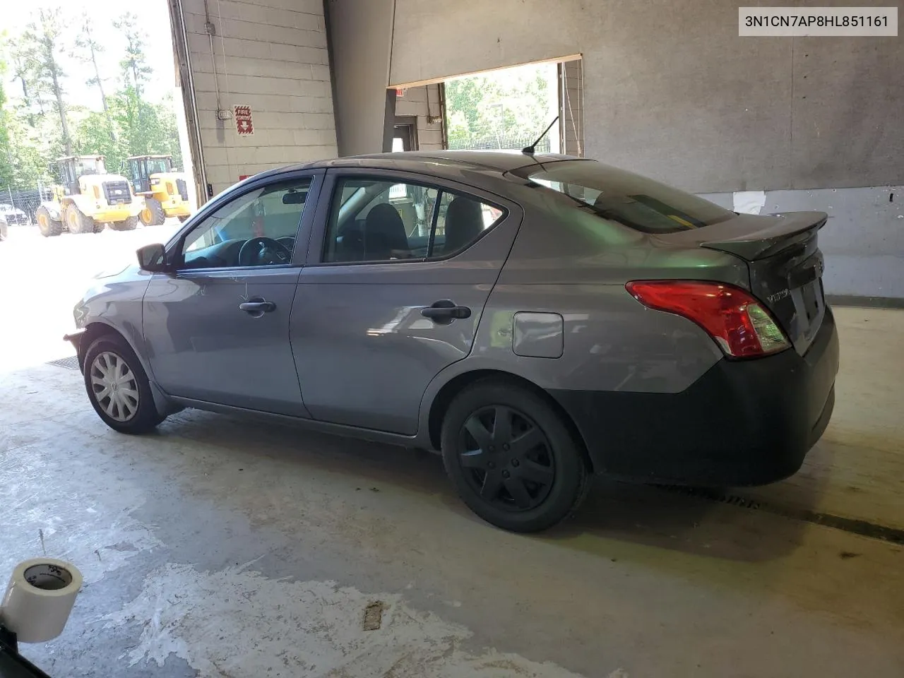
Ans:
{"label": "roll of white tape at the bottom left corner", "polygon": [[6,587],[0,618],[21,643],[43,643],[62,633],[81,573],[71,563],[53,558],[20,562]]}

